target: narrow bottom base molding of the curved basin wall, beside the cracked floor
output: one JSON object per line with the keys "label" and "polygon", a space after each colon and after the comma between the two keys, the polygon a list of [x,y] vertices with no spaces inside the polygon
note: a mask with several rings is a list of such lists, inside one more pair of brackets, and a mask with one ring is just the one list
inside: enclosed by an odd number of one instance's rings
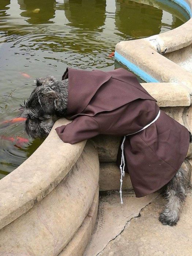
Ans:
{"label": "narrow bottom base molding of the curved basin wall, beside the cracked floor", "polygon": [[72,240],[68,243],[67,246],[63,249],[59,256],[82,256],[86,246],[91,238],[91,233],[95,226],[98,212],[98,203],[99,203],[99,187],[95,193],[95,197],[91,208],[87,214],[87,217],[84,219],[82,225],[79,227],[78,231],[75,233]]}

